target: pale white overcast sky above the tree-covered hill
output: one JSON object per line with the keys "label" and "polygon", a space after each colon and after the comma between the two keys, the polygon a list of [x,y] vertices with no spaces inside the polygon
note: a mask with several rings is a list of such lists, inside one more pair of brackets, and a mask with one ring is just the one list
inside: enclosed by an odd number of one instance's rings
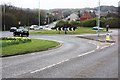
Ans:
{"label": "pale white overcast sky above the tree-covered hill", "polygon": [[[30,9],[85,8],[97,7],[99,0],[0,0],[0,4],[11,4]],[[118,6],[119,0],[100,0],[101,5]],[[40,5],[39,5],[40,3]]]}

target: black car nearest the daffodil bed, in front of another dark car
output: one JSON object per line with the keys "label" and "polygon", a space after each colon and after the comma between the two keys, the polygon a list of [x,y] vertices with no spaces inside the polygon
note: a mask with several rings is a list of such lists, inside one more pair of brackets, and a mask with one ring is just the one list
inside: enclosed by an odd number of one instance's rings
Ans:
{"label": "black car nearest the daffodil bed, in front of another dark car", "polygon": [[29,36],[29,31],[27,29],[17,29],[13,32],[14,36]]}

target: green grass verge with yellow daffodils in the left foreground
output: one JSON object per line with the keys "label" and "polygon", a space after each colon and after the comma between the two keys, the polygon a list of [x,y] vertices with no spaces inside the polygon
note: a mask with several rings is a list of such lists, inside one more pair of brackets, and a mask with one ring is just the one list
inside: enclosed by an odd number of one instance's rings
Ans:
{"label": "green grass verge with yellow daffodils in the left foreground", "polygon": [[2,56],[11,56],[16,54],[25,54],[37,51],[47,50],[58,46],[58,42],[49,41],[49,40],[38,40],[32,39],[31,42],[9,45],[2,48]]}

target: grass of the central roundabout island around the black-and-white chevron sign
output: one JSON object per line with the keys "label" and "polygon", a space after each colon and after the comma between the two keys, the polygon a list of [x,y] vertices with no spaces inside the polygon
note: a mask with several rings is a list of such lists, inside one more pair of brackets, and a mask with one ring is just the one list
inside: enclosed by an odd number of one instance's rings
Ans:
{"label": "grass of the central roundabout island around the black-and-white chevron sign", "polygon": [[[86,34],[86,33],[96,33],[96,30],[92,30],[89,27],[78,27],[76,31],[67,31],[67,34]],[[100,30],[100,32],[105,32],[105,30]],[[30,34],[65,34],[65,31],[56,31],[56,30],[39,30],[31,31]]]}

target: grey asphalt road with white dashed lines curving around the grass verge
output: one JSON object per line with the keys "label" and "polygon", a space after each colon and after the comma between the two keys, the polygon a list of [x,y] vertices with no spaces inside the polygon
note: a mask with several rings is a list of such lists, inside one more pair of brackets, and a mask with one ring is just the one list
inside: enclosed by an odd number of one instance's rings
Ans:
{"label": "grey asphalt road with white dashed lines curving around the grass verge", "polygon": [[101,43],[76,35],[30,37],[58,41],[61,46],[2,58],[3,78],[118,78],[117,43]]}

